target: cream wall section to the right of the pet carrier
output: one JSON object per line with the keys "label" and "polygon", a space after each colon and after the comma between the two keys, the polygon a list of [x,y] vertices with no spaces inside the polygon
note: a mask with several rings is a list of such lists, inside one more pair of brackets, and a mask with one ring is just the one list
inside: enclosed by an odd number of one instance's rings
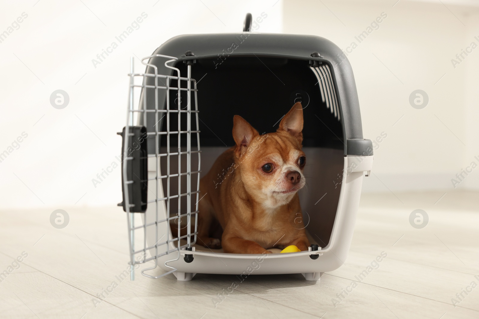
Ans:
{"label": "cream wall section to the right of the pet carrier", "polygon": [[[375,150],[375,175],[365,178],[364,191],[453,191],[456,173],[479,164],[473,156],[479,158],[479,48],[456,68],[451,63],[471,42],[479,45],[479,3],[443,2],[285,1],[285,33],[319,35],[342,49],[358,44],[348,59],[364,136],[388,134]],[[354,37],[382,12],[387,18],[359,43]],[[422,110],[409,103],[416,89],[429,96]],[[479,168],[456,189],[478,189],[478,181]]]}

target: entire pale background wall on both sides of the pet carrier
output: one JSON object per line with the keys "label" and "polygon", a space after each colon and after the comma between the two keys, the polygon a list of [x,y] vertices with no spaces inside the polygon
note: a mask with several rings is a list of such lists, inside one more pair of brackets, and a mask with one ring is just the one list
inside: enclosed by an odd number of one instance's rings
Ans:
{"label": "entire pale background wall on both sides of the pet carrier", "polygon": [[[178,34],[240,31],[246,12],[268,14],[260,32],[316,34],[344,49],[381,12],[388,15],[348,55],[365,138],[388,134],[365,191],[453,191],[451,178],[479,164],[479,48],[456,68],[451,64],[470,42],[479,44],[478,1],[202,1],[2,5],[0,33],[22,12],[28,17],[0,43],[0,152],[22,132],[28,137],[0,163],[1,209],[121,201],[119,168],[96,188],[91,179],[120,154],[115,133],[125,125],[129,57],[150,55]],[[142,12],[148,17],[139,29],[95,68],[91,60]],[[57,89],[70,98],[63,110],[49,102]],[[409,104],[415,89],[428,93],[425,109]],[[479,168],[460,188],[479,188]]]}

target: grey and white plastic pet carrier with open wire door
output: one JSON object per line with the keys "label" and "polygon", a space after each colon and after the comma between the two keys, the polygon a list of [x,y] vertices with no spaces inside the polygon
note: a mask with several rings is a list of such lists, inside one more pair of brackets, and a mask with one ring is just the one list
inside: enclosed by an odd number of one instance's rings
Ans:
{"label": "grey and white plastic pet carrier with open wire door", "polygon": [[[122,190],[131,279],[173,273],[301,273],[319,280],[340,267],[349,250],[364,172],[373,162],[363,139],[353,71],[341,49],[312,35],[188,34],[133,59],[123,136]],[[267,255],[223,253],[196,244],[200,174],[235,145],[235,114],[258,132],[274,132],[295,102],[304,112],[307,187],[299,192],[309,251]],[[201,142],[201,143],[200,143]],[[201,148],[200,148],[201,146]],[[139,213],[139,214],[136,214]],[[155,268],[164,271],[155,271]]]}

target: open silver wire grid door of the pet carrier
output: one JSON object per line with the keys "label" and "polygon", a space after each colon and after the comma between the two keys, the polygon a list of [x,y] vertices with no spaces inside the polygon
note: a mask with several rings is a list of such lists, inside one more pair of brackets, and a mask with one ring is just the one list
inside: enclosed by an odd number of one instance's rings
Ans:
{"label": "open silver wire grid door of the pet carrier", "polygon": [[[164,66],[172,70],[172,75],[158,74],[158,67],[152,63],[153,59],[156,61],[165,59]],[[136,218],[138,214],[131,211],[134,205],[129,203],[127,185],[133,181],[127,178],[126,164],[127,161],[132,160],[132,157],[124,154],[122,174],[131,280],[134,279],[137,265],[150,261],[154,264],[143,269],[142,275],[159,278],[175,272],[177,269],[168,263],[179,260],[180,250],[189,250],[196,242],[201,172],[197,88],[196,81],[191,78],[193,63],[187,63],[187,77],[181,77],[180,69],[172,66],[176,61],[177,58],[167,55],[147,56],[141,62],[147,66],[149,72],[134,73],[133,58],[130,60],[124,148],[126,150],[131,142],[129,139],[133,134],[130,128],[135,123],[146,126],[148,139],[154,140],[154,152],[149,149],[147,154],[148,178],[142,180],[148,188],[148,208],[141,214],[141,219]],[[136,94],[137,91],[140,91],[140,94]],[[176,93],[173,95],[174,99],[171,98],[171,92]],[[184,99],[186,99],[186,105],[182,102]],[[138,105],[137,109],[135,105]],[[177,122],[173,123],[175,118]],[[152,119],[154,121],[151,121]],[[177,129],[171,129],[171,126],[175,125]],[[160,129],[161,127],[163,130]],[[195,149],[192,148],[192,135],[196,137]],[[177,143],[171,142],[172,137],[176,137]],[[161,146],[161,139],[164,139],[165,146]],[[194,156],[197,158],[193,161]],[[197,163],[197,169],[192,170],[192,163]],[[176,165],[177,167],[173,167]],[[174,170],[177,171],[174,172]],[[177,188],[173,187],[176,184]],[[139,225],[136,226],[136,224]],[[137,248],[138,246],[140,248]],[[156,276],[145,273],[158,266],[160,257],[169,254],[171,259],[168,258],[164,264],[171,269],[170,271]]]}

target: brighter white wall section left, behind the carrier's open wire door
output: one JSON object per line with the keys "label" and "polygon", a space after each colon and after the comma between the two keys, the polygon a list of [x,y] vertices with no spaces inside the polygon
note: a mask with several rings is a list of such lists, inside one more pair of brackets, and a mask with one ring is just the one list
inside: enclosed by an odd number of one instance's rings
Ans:
{"label": "brighter white wall section left, behind the carrier's open wire door", "polygon": [[[247,12],[268,14],[258,31],[282,31],[276,0],[82,1],[2,4],[0,32],[28,17],[0,43],[0,152],[28,137],[0,163],[0,209],[121,201],[120,168],[96,188],[91,179],[121,153],[130,56],[148,56],[179,34],[239,32]],[[91,60],[142,12],[139,29],[95,68]],[[62,110],[49,102],[57,89],[70,98]]]}

